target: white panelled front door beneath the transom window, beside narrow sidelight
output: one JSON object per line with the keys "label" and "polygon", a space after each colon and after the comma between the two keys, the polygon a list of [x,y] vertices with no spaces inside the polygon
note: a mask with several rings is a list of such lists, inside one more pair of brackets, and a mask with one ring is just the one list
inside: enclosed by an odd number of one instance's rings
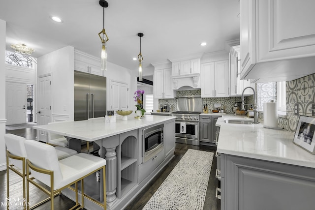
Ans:
{"label": "white panelled front door beneath the transom window, beside narrow sidelight", "polygon": [[6,124],[26,123],[26,84],[5,83]]}

